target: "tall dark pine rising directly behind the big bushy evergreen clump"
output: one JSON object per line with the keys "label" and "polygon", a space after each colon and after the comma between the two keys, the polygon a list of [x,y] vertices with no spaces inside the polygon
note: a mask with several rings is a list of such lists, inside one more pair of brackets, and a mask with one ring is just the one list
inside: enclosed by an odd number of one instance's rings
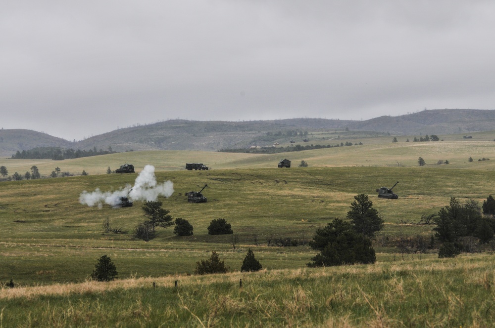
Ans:
{"label": "tall dark pine rising directly behind the big bushy evergreen clump", "polygon": [[347,219],[351,221],[356,232],[374,238],[375,234],[383,228],[383,219],[373,208],[373,202],[370,201],[368,195],[359,194],[354,196],[354,200],[347,212]]}

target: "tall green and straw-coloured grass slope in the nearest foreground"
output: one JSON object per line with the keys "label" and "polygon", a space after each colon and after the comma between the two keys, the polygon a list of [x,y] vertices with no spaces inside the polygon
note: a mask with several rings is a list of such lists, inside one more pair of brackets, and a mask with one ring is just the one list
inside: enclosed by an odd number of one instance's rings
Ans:
{"label": "tall green and straw-coloured grass slope in the nearest foreground", "polygon": [[489,327],[495,320],[494,268],[493,255],[471,254],[449,260],[431,257],[2,289],[0,323],[1,327]]}

